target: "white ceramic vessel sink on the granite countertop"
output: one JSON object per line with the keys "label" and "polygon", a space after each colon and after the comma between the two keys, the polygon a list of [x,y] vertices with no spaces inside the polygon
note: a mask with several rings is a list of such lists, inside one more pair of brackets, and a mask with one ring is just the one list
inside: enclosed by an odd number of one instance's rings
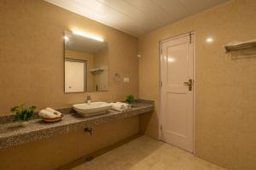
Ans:
{"label": "white ceramic vessel sink on the granite countertop", "polygon": [[73,109],[82,116],[96,116],[108,113],[111,105],[106,102],[91,102],[84,104],[75,104]]}

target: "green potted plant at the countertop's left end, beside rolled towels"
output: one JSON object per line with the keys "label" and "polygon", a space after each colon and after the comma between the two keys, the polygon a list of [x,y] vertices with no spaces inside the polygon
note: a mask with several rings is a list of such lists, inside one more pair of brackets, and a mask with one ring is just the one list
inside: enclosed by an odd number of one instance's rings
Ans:
{"label": "green potted plant at the countertop's left end, beside rolled towels", "polygon": [[28,108],[24,108],[23,105],[17,105],[11,109],[12,113],[15,113],[14,122],[20,121],[21,127],[26,127],[28,120],[34,115],[34,111],[37,107],[32,105]]}

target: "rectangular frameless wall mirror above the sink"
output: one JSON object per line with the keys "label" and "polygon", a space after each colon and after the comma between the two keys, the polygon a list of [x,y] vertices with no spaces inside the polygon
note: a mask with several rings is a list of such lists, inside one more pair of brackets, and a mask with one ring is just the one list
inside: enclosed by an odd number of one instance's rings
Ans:
{"label": "rectangular frameless wall mirror above the sink", "polygon": [[108,90],[108,42],[65,31],[65,93]]}

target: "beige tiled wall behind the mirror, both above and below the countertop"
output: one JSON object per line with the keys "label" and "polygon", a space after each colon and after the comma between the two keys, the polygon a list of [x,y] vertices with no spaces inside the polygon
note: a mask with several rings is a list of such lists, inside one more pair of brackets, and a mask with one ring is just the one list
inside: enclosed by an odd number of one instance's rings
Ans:
{"label": "beige tiled wall behind the mirror, both above and below the countertop", "polygon": [[[84,102],[86,93],[64,94],[63,31],[73,28],[108,41],[109,90],[93,100],[138,94],[137,38],[43,0],[0,1],[0,115],[20,103],[53,108]],[[130,82],[113,81],[114,73]],[[53,169],[138,133],[138,116],[0,150],[0,169]]]}

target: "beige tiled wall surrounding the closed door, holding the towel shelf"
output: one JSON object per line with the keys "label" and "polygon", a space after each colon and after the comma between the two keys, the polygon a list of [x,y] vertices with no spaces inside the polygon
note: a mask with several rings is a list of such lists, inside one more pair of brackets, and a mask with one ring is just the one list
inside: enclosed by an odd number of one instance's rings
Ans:
{"label": "beige tiled wall surrounding the closed door, holding the towel shelf", "polygon": [[[256,169],[256,54],[235,59],[224,45],[255,30],[255,0],[234,0],[139,39],[139,96],[158,104],[159,41],[195,31],[195,156],[232,170]],[[157,138],[159,112],[147,118]]]}

